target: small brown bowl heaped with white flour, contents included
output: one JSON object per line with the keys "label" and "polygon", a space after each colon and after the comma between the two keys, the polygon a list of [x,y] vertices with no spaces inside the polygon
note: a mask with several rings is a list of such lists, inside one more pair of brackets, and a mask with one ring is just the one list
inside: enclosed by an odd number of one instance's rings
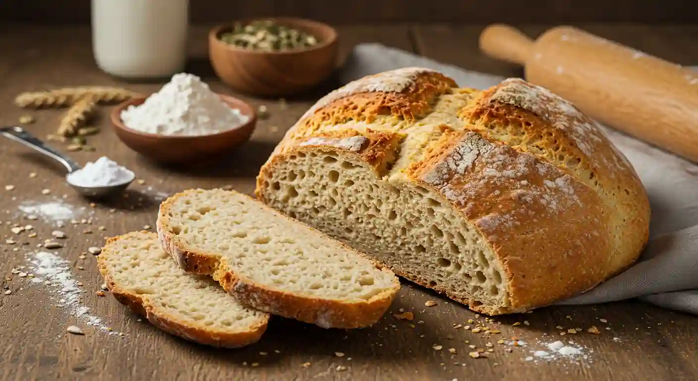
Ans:
{"label": "small brown bowl heaped with white flour, contents included", "polygon": [[121,103],[111,115],[119,139],[163,164],[197,164],[249,140],[257,115],[244,101],[211,92],[198,77],[176,74],[147,98]]}

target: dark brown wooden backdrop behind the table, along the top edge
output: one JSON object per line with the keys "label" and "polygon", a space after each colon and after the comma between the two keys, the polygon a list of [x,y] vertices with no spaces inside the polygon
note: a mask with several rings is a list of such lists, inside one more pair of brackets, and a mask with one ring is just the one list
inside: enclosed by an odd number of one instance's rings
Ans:
{"label": "dark brown wooden backdrop behind the table, along the top edge", "polygon": [[[89,22],[89,0],[0,1],[0,20]],[[247,17],[305,17],[341,24],[357,22],[683,22],[697,20],[685,0],[196,0],[191,20],[227,22]]]}

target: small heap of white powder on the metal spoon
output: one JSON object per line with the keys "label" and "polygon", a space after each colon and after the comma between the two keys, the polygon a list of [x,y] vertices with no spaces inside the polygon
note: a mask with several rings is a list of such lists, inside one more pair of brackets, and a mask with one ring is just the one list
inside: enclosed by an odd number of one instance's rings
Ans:
{"label": "small heap of white powder on the metal spoon", "polygon": [[68,175],[68,182],[78,187],[109,187],[132,181],[135,175],[103,156],[96,161],[88,161],[84,167]]}

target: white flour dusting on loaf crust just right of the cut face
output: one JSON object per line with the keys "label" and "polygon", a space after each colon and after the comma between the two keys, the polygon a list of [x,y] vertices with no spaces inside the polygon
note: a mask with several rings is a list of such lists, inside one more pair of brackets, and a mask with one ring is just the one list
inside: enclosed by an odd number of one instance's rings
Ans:
{"label": "white flour dusting on loaf crust just right of the cut face", "polygon": [[[512,210],[495,210],[477,220],[484,230],[518,224],[517,216],[562,213],[579,204],[572,177],[531,154],[495,145],[479,134],[468,132],[459,143],[424,173],[421,180],[461,206],[477,203],[483,189],[492,196],[516,201]],[[541,208],[542,207],[542,208]]]}

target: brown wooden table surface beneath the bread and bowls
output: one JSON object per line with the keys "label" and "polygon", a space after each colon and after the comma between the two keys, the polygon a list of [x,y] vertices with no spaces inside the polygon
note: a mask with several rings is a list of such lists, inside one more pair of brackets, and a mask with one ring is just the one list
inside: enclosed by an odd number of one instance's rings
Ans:
{"label": "brown wooden table surface beneath the bread and bowls", "polygon": [[[387,25],[339,27],[341,48],[346,54],[359,42],[419,52],[466,69],[518,76],[515,66],[495,62],[477,50],[477,35],[483,26]],[[673,60],[698,64],[698,27],[641,25],[581,25],[585,29],[634,48]],[[535,36],[545,26],[521,28]],[[193,27],[189,71],[209,82],[211,88],[234,94],[221,85],[207,64],[206,27]],[[23,91],[75,85],[120,85],[139,92],[156,91],[162,84],[124,84],[99,71],[91,55],[88,27],[0,27],[0,124],[15,124],[20,116],[32,115],[36,123],[27,127],[43,137],[59,124],[61,111],[22,110],[13,97]],[[332,87],[334,85],[327,85]],[[484,322],[463,305],[447,301],[426,289],[403,282],[400,297],[376,326],[354,331],[325,330],[308,324],[273,319],[262,340],[240,350],[216,350],[193,345],[158,331],[128,312],[107,292],[98,296],[103,280],[95,258],[84,254],[87,247],[101,246],[114,236],[144,225],[154,226],[161,197],[190,187],[231,185],[250,193],[262,162],[285,129],[304,113],[317,94],[303,99],[253,99],[266,105],[269,119],[262,120],[252,141],[232,154],[230,161],[215,168],[176,170],[151,164],[123,144],[110,130],[103,107],[91,124],[101,127],[89,138],[96,152],[75,152],[81,164],[106,155],[132,168],[143,184],[135,183],[128,198],[91,207],[63,182],[60,166],[39,157],[28,148],[0,140],[0,379],[1,380],[696,380],[698,379],[698,320],[636,301],[605,305],[550,307],[525,315],[497,317]],[[54,143],[64,149],[61,143]],[[36,173],[32,177],[30,173]],[[5,190],[13,185],[13,190]],[[50,189],[43,194],[42,189]],[[81,213],[61,228],[68,235],[64,247],[55,250],[70,261],[75,280],[84,289],[80,303],[101,317],[114,332],[87,326],[60,308],[52,287],[32,283],[13,273],[28,265],[28,256],[38,243],[51,237],[54,222],[28,220],[20,206],[30,202],[59,199]],[[84,208],[81,210],[80,208]],[[78,221],[80,222],[80,221]],[[31,224],[31,232],[13,234],[12,224]],[[99,230],[98,227],[105,230]],[[92,233],[84,233],[85,230]],[[15,240],[7,244],[6,239]],[[29,271],[28,268],[24,270]],[[6,294],[9,290],[10,294]],[[424,302],[438,304],[425,307]],[[393,316],[399,309],[412,311],[412,322]],[[73,309],[74,310],[74,309]],[[475,323],[468,324],[468,319]],[[144,319],[143,319],[144,320]],[[461,326],[480,322],[500,333],[473,333]],[[518,324],[517,324],[518,323]],[[66,333],[70,324],[81,326],[85,336]],[[558,328],[556,328],[558,326]],[[600,335],[587,333],[597,326]],[[559,327],[562,327],[560,329]],[[576,334],[560,331],[581,328]],[[498,344],[519,338],[523,347]],[[531,350],[542,343],[573,340],[584,348],[585,359],[526,361]],[[488,358],[473,359],[469,345],[493,349]],[[441,348],[438,350],[438,348]],[[453,350],[450,350],[453,348]],[[343,357],[335,352],[342,352]],[[265,354],[266,353],[266,354]],[[304,365],[305,364],[305,365]],[[339,368],[338,368],[339,367]],[[339,370],[338,370],[339,369]]]}

